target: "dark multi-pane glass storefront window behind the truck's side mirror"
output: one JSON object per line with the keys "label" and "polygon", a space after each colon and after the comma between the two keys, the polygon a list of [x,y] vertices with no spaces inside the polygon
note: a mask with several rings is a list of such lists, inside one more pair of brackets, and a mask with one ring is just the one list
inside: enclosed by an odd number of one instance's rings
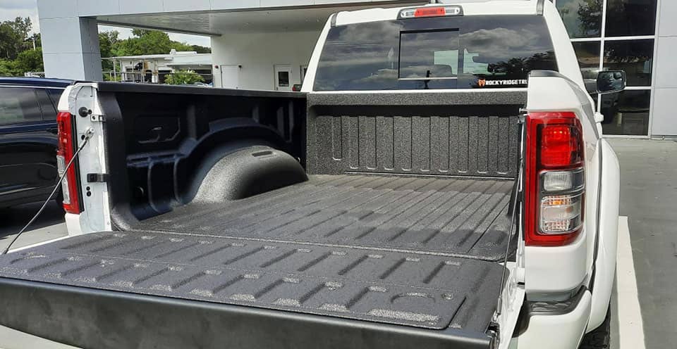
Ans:
{"label": "dark multi-pane glass storefront window behind the truck's side mirror", "polygon": [[649,134],[657,2],[554,0],[569,37],[578,39],[572,44],[583,78],[595,79],[602,61],[602,69],[624,70],[628,87],[639,88],[620,94],[592,96],[604,114],[604,134]]}

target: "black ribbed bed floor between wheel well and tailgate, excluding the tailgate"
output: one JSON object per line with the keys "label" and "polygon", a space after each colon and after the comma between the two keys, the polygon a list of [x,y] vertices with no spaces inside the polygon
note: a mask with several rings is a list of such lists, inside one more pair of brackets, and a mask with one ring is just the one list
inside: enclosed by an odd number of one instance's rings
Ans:
{"label": "black ribbed bed floor between wheel well and tailgate, excluding the tailgate", "polygon": [[223,204],[190,204],[138,229],[413,250],[501,260],[509,179],[312,175]]}

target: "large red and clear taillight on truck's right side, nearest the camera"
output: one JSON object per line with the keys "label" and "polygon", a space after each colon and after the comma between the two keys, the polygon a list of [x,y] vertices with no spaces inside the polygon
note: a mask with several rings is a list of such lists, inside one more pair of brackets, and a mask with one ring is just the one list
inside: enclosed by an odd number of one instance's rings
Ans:
{"label": "large red and clear taillight on truck's right side, nearest the camera", "polygon": [[583,227],[583,130],[574,113],[527,117],[525,243],[563,246]]}

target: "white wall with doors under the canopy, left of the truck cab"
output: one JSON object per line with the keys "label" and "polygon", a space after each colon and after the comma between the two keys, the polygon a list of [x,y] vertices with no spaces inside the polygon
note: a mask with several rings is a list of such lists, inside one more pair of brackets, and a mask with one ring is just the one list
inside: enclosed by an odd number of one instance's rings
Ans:
{"label": "white wall with doors under the canopy, left of the truck cab", "polygon": [[[291,65],[291,84],[300,84],[300,67],[307,65],[319,37],[317,32],[224,34],[212,37],[214,65],[242,65],[240,89],[274,89],[273,66]],[[214,86],[221,87],[214,69]]]}

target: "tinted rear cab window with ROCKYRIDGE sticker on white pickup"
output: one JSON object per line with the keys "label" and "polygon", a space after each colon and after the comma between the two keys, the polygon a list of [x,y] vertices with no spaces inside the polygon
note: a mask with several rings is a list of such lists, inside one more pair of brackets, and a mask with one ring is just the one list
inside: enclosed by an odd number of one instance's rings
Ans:
{"label": "tinted rear cab window with ROCKYRIDGE sticker on white pickup", "polygon": [[557,70],[542,16],[388,20],[331,28],[313,89],[526,87],[531,70]]}

